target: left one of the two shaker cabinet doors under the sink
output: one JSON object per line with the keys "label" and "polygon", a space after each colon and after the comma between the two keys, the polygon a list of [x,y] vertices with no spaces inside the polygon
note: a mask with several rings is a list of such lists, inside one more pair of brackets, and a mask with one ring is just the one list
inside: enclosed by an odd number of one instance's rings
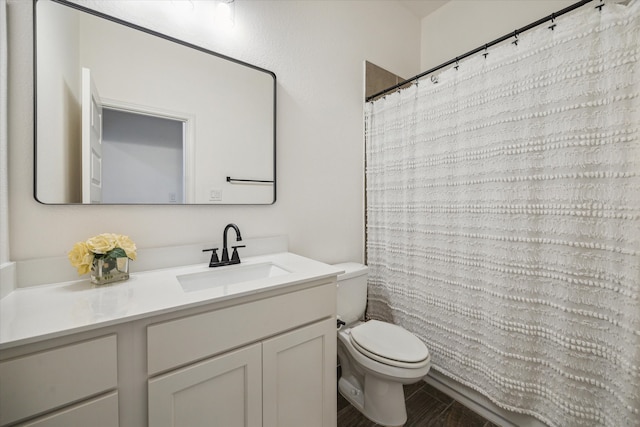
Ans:
{"label": "left one of the two shaker cabinet doors under the sink", "polygon": [[260,344],[149,380],[149,427],[262,426]]}

